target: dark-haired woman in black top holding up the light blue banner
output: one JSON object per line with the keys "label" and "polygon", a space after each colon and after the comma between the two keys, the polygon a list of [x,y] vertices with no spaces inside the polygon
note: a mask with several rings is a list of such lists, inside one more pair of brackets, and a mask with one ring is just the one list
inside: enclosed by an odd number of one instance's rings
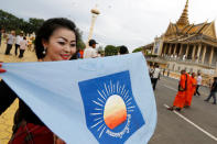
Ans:
{"label": "dark-haired woman in black top holding up the light blue banner", "polygon": [[[69,60],[76,53],[79,36],[76,25],[63,18],[50,19],[43,23],[35,38],[35,53],[40,62]],[[0,73],[6,73],[1,68]],[[0,115],[19,98],[9,86],[0,81]],[[19,99],[19,109],[14,117],[13,135],[9,144],[63,144],[34,112]]]}

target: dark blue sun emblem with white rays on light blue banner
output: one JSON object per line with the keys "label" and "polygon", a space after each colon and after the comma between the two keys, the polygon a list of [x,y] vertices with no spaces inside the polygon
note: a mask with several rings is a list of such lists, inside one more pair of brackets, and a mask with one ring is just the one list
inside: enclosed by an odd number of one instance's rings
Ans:
{"label": "dark blue sun emblem with white rays on light blue banner", "polygon": [[143,124],[129,71],[80,81],[86,124],[99,143],[123,143]]}

